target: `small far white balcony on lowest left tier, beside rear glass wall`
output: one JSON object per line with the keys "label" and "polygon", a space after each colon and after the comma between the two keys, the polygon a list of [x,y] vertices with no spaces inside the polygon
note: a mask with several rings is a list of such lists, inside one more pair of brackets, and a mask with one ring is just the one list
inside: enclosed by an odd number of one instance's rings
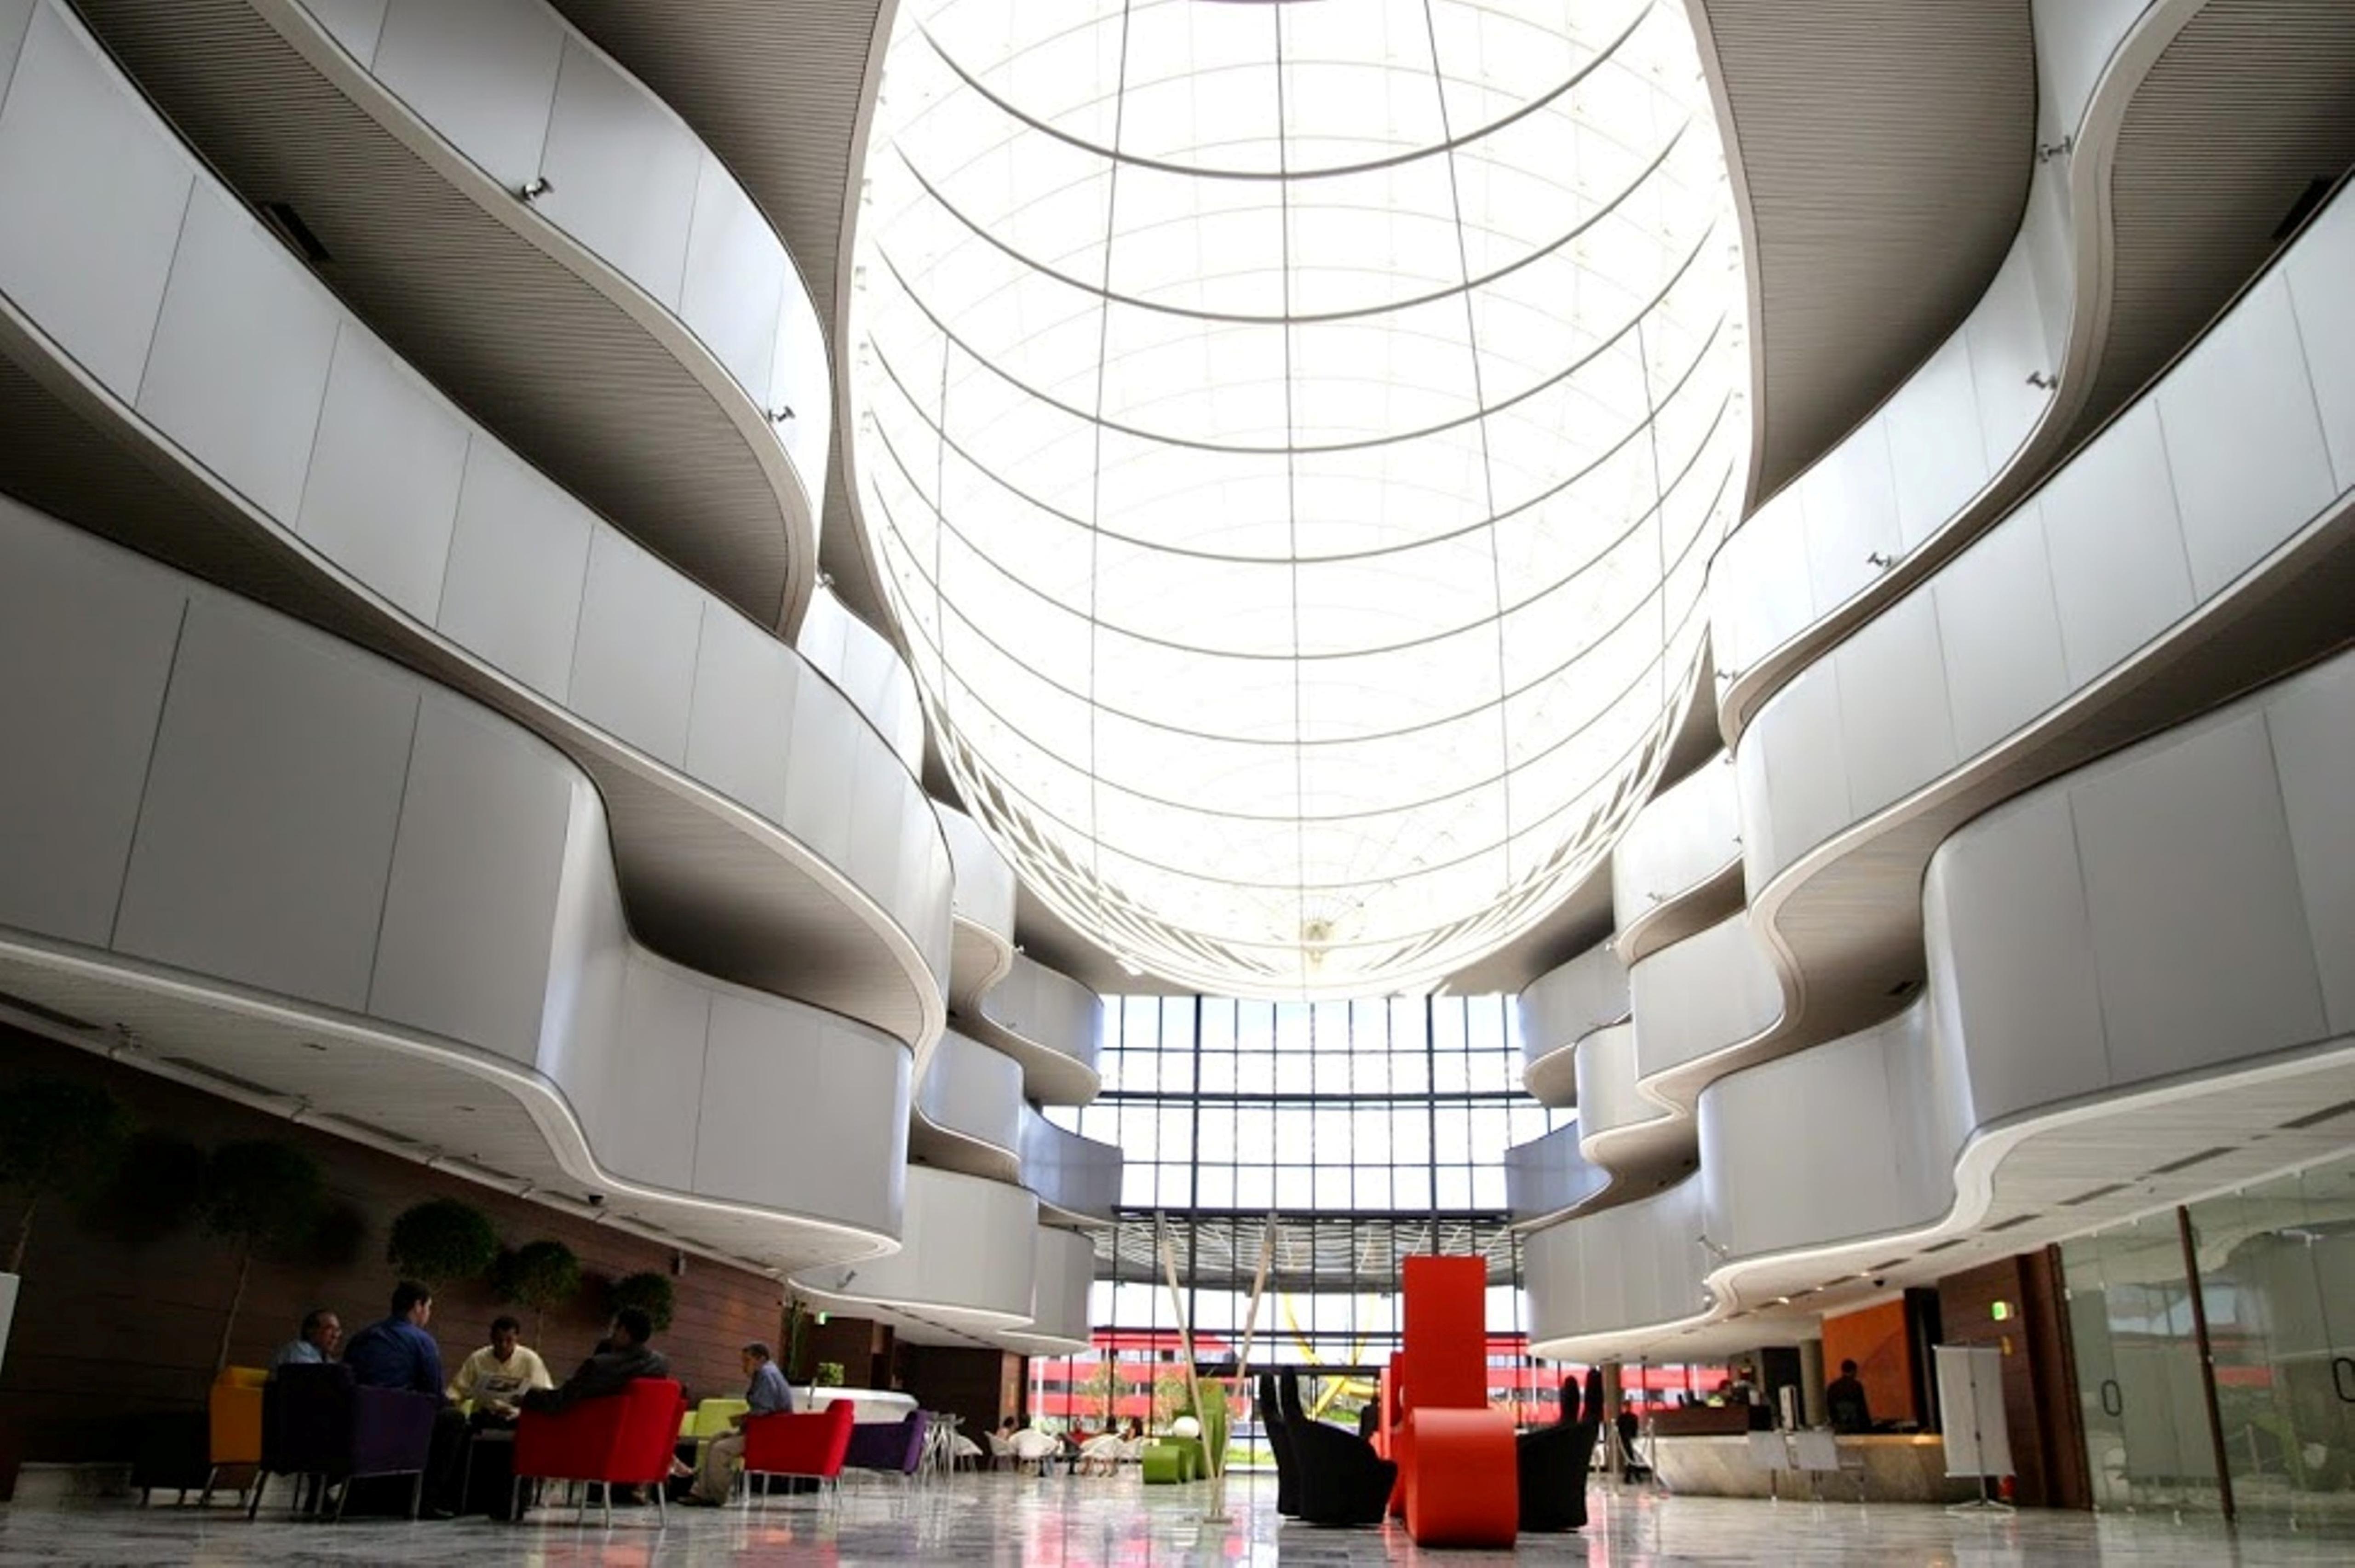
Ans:
{"label": "small far white balcony on lowest left tier, beside rear glass wall", "polygon": [[963,1333],[1031,1323],[1039,1201],[1008,1182],[909,1165],[900,1250],[853,1267],[801,1269],[820,1304],[921,1314]]}

